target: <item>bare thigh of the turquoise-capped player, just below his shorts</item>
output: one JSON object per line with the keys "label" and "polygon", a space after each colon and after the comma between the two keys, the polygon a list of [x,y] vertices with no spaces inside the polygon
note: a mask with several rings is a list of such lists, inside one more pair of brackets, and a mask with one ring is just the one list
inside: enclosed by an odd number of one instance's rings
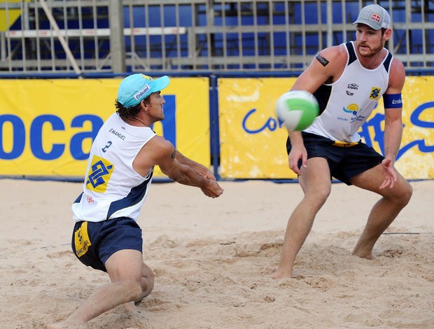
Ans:
{"label": "bare thigh of the turquoise-capped player, just below his shorts", "polygon": [[141,281],[144,272],[143,256],[140,251],[123,249],[113,253],[105,262],[112,282],[123,280]]}

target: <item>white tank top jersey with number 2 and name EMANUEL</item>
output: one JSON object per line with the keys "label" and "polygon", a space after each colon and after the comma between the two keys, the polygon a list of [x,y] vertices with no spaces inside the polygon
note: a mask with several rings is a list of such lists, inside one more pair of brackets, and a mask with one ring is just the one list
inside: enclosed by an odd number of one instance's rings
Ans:
{"label": "white tank top jersey with number 2 and name EMANUEL", "polygon": [[94,139],[87,162],[83,193],[72,205],[74,221],[100,222],[140,214],[153,168],[146,177],[132,167],[141,148],[155,136],[149,127],[134,127],[113,113]]}

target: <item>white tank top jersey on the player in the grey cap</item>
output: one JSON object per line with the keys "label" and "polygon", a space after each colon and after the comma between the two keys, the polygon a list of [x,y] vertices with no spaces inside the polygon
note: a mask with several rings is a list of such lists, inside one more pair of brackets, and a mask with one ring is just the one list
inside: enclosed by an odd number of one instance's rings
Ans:
{"label": "white tank top jersey on the player in the grey cap", "polygon": [[365,69],[358,60],[352,41],[344,44],[348,59],[342,76],[331,84],[323,84],[314,92],[320,106],[320,116],[304,132],[328,139],[355,143],[358,130],[369,118],[378,100],[388,88],[388,75],[393,59],[387,51],[376,69]]}

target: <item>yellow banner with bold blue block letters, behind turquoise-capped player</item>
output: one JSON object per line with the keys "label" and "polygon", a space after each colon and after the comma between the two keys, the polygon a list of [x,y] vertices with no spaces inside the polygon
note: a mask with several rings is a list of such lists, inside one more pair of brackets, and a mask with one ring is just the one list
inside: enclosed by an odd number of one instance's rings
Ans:
{"label": "yellow banner with bold blue block letters, behind turquoise-capped player", "polygon": [[[0,80],[0,176],[84,177],[120,81]],[[153,129],[210,167],[208,78],[171,78],[162,94],[166,118]]]}

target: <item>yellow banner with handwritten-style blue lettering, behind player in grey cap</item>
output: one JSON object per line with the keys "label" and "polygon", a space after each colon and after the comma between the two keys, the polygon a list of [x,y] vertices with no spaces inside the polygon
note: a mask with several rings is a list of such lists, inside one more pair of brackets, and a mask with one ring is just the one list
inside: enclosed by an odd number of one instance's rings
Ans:
{"label": "yellow banner with handwritten-style blue lettering, behind player in grey cap", "polygon": [[[288,167],[286,138],[274,105],[295,78],[222,78],[218,80],[221,177],[295,179]],[[407,77],[402,99],[405,125],[396,168],[406,179],[434,178],[434,77]],[[382,153],[384,106],[360,130],[366,144]]]}

